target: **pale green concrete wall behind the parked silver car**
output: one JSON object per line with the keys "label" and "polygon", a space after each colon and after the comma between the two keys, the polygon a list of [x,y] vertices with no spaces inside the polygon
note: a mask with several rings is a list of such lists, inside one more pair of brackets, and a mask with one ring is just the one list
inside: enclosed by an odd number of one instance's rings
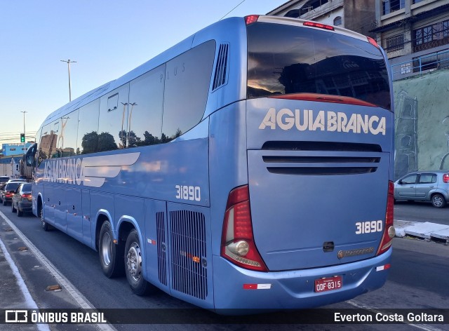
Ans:
{"label": "pale green concrete wall behind the parked silver car", "polygon": [[394,81],[395,178],[449,170],[449,70]]}

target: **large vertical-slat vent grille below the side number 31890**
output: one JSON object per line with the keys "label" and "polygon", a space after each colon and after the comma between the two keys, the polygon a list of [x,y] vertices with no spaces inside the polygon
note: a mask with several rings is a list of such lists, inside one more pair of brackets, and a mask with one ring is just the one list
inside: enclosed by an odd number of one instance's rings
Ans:
{"label": "large vertical-slat vent grille below the side number 31890", "polygon": [[172,288],[206,299],[206,220],[201,212],[170,211]]}

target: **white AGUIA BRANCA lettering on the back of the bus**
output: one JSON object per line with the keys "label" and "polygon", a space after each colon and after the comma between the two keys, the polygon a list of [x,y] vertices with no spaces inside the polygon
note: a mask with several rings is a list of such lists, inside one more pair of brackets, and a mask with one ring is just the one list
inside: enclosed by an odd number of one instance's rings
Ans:
{"label": "white AGUIA BRANCA lettering on the back of the bus", "polygon": [[276,127],[281,130],[296,128],[299,131],[334,131],[344,133],[371,133],[385,135],[385,117],[369,116],[367,114],[351,114],[343,112],[325,112],[323,110],[314,112],[309,109],[295,109],[295,112],[288,108],[283,108],[276,112],[276,109],[268,109],[259,129],[264,130],[269,127],[274,130]]}

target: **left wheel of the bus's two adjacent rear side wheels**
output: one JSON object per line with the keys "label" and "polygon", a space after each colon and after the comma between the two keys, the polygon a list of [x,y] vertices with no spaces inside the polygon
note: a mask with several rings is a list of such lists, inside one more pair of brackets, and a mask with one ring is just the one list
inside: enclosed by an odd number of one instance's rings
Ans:
{"label": "left wheel of the bus's two adjacent rear side wheels", "polygon": [[98,238],[98,254],[100,265],[107,278],[123,274],[123,242],[114,244],[109,221],[105,221],[100,229]]}

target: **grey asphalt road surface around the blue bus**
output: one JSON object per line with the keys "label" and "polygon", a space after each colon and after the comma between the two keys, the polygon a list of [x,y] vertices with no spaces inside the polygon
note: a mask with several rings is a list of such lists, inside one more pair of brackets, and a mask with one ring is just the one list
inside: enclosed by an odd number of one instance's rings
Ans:
{"label": "grey asphalt road surface around the blue bus", "polygon": [[[397,205],[397,207],[401,207]],[[409,207],[409,206],[407,206]],[[422,205],[412,205],[420,208]],[[432,207],[431,207],[432,208]],[[44,256],[62,273],[81,294],[88,299],[95,308],[134,308],[134,309],[192,309],[194,306],[166,295],[156,290],[147,297],[138,297],[130,292],[126,278],[106,278],[103,276],[98,262],[98,253],[79,243],[58,230],[45,232],[40,227],[36,217],[25,215],[17,217],[11,213],[11,206],[0,206],[0,210],[11,219],[20,231],[36,245]],[[436,208],[434,208],[436,210]],[[447,213],[449,209],[438,210]],[[427,219],[429,220],[429,219]],[[17,244],[20,245],[20,244]],[[389,280],[380,290],[368,292],[349,302],[342,302],[326,306],[333,309],[361,308],[371,311],[379,309],[417,309],[417,308],[447,308],[449,306],[449,246],[441,243],[417,241],[406,238],[394,239]],[[18,261],[19,264],[21,263]],[[33,285],[36,273],[26,264],[20,266],[25,273],[31,292],[38,299],[38,306],[52,307],[53,302],[42,298],[43,288]],[[40,281],[40,283],[42,283]],[[50,284],[48,284],[50,285]],[[40,299],[39,299],[40,298]],[[63,303],[57,308],[64,308]],[[72,303],[70,303],[72,304]],[[69,303],[67,303],[69,305]],[[53,307],[56,308],[56,307]],[[337,325],[302,325],[286,324],[285,320],[300,318],[301,311],[286,315],[270,315],[274,324],[253,323],[242,325],[241,320],[235,323],[223,323],[220,316],[206,310],[194,310],[195,324],[172,325],[114,325],[116,330],[333,330]],[[208,323],[204,323],[204,321]],[[362,325],[340,325],[344,330],[361,330]],[[340,328],[339,327],[339,328]],[[448,325],[432,325],[424,330],[449,330]],[[398,323],[397,325],[363,325],[363,330],[416,330],[415,325]],[[419,327],[423,329],[422,325]],[[0,327],[1,329],[1,327]],[[57,327],[54,330],[70,330]]]}

